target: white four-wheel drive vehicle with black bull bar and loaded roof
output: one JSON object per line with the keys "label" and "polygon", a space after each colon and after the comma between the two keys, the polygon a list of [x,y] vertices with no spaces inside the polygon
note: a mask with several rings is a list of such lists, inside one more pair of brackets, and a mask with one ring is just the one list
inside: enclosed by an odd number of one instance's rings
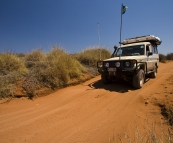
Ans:
{"label": "white four-wheel drive vehicle with black bull bar and loaded roof", "polygon": [[103,83],[120,78],[141,88],[146,76],[156,78],[159,67],[157,46],[161,42],[160,38],[147,35],[126,39],[119,48],[115,46],[110,59],[97,62]]}

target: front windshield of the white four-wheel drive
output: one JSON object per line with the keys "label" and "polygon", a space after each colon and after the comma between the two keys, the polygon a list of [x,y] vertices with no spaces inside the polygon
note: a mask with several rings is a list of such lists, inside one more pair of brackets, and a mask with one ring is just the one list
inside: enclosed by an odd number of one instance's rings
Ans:
{"label": "front windshield of the white four-wheel drive", "polygon": [[114,57],[117,56],[137,56],[144,55],[144,45],[135,45],[129,47],[118,48]]}

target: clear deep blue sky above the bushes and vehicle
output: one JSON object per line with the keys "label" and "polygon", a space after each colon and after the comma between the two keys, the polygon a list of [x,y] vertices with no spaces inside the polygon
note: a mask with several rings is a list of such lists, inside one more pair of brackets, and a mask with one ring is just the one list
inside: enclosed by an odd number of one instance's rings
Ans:
{"label": "clear deep blue sky above the bushes and vehicle", "polygon": [[0,52],[45,52],[61,46],[68,53],[100,45],[113,50],[122,40],[155,35],[159,53],[173,52],[173,0],[0,0]]}

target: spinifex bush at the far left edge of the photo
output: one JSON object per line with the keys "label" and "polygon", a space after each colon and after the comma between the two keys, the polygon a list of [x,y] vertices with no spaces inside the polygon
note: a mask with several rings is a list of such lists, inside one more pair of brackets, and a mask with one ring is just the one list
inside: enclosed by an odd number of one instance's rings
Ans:
{"label": "spinifex bush at the far left edge of the photo", "polygon": [[14,84],[27,73],[24,63],[14,54],[0,54],[0,98],[13,95]]}

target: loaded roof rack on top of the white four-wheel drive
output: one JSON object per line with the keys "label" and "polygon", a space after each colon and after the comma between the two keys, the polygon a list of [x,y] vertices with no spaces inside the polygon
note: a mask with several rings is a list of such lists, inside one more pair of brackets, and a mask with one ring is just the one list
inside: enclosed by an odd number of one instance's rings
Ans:
{"label": "loaded roof rack on top of the white four-wheel drive", "polygon": [[139,42],[150,42],[154,45],[160,45],[162,43],[159,37],[156,37],[154,35],[146,35],[146,36],[139,36],[139,37],[125,39],[120,44],[126,45],[126,44],[139,43]]}

